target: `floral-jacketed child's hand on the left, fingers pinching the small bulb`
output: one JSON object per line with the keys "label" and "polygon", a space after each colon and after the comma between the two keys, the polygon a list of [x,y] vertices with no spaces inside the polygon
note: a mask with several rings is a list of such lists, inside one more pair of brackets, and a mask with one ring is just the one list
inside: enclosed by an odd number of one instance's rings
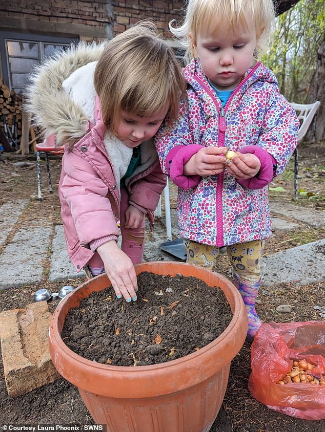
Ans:
{"label": "floral-jacketed child's hand on the left, fingers pinching the small bulb", "polygon": [[191,159],[184,165],[184,174],[193,176],[195,174],[201,177],[213,176],[220,174],[225,169],[225,153],[228,147],[204,147],[201,148]]}

